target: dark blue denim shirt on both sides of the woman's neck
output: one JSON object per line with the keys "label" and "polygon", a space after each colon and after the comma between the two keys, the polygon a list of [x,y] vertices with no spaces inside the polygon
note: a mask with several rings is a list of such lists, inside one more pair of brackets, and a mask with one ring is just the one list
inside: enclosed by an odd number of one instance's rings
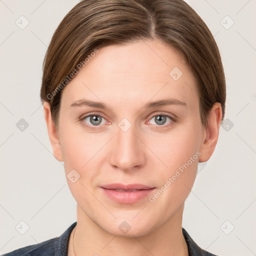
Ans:
{"label": "dark blue denim shirt on both sides of the woman's neck", "polygon": [[[2,256],[67,256],[70,233],[75,225],[76,221],[58,237],[13,250]],[[217,256],[201,249],[183,227],[182,233],[187,244],[189,256]]]}

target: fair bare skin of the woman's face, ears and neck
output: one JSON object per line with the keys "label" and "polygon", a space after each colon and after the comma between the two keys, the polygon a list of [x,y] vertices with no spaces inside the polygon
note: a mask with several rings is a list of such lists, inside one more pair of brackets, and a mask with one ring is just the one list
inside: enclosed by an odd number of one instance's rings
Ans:
{"label": "fair bare skin of the woman's face, ears and neck", "polygon": [[[74,240],[69,239],[68,255],[74,255],[73,245],[76,256],[188,255],[181,231],[184,201],[192,188],[198,160],[207,161],[214,151],[221,105],[214,103],[208,125],[203,127],[192,72],[181,56],[160,40],[98,50],[63,88],[58,128],[51,120],[49,104],[43,103],[55,158],[64,162],[66,175],[71,169],[80,175],[74,183],[67,178],[77,202],[77,224],[70,235],[75,230]],[[175,66],[183,72],[176,81],[169,75]],[[167,97],[186,106],[143,108],[148,101]],[[82,98],[104,102],[111,110],[70,107]],[[103,115],[99,125],[89,117],[79,120],[92,111]],[[166,117],[160,125],[154,117],[157,114],[175,115],[177,119]],[[131,124],[126,131],[118,126],[123,118]],[[117,203],[99,188],[120,182],[160,189],[196,151],[200,156],[153,202],[145,197],[132,204]],[[123,221],[131,227],[125,234],[118,228]]]}

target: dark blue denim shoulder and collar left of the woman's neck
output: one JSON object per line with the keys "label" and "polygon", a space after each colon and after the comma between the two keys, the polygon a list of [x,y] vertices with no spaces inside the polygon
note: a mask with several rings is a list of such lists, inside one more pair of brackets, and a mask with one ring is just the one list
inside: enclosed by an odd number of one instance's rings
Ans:
{"label": "dark blue denim shoulder and collar left of the woman's neck", "polygon": [[69,236],[76,225],[72,223],[60,236],[49,240],[15,249],[2,256],[62,256],[67,255]]}

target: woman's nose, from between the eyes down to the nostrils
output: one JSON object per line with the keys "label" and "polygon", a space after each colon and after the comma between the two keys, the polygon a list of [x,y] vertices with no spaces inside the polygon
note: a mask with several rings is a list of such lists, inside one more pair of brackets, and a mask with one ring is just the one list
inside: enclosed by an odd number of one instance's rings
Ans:
{"label": "woman's nose, from between the eyes down to the nostrils", "polygon": [[[145,148],[134,125],[124,131],[117,127],[112,139],[109,162],[115,168],[123,171],[133,171],[145,164]],[[141,134],[140,134],[141,135]]]}

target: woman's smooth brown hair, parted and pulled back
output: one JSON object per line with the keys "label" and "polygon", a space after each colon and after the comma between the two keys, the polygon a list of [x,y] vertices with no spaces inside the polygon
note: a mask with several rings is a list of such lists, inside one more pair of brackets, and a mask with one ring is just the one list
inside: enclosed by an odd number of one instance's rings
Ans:
{"label": "woman's smooth brown hair, parted and pulled back", "polygon": [[195,76],[202,124],[207,124],[215,102],[221,103],[223,120],[226,89],[218,47],[206,24],[187,3],[82,0],[58,25],[43,61],[40,98],[42,103],[49,102],[56,127],[61,89],[86,56],[106,45],[155,38],[176,49]]}

